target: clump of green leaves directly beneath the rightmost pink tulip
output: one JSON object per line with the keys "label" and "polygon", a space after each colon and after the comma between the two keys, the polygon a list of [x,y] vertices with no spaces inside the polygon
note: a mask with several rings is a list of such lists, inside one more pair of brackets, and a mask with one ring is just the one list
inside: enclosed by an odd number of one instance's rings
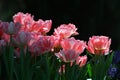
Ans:
{"label": "clump of green leaves directly beneath the rightmost pink tulip", "polygon": [[[90,66],[88,64],[88,68],[91,67],[92,71],[92,79],[93,80],[103,80],[107,74],[109,66],[112,62],[113,53],[107,56],[105,55],[95,55],[93,59],[90,61]],[[88,72],[89,76],[91,76],[91,71]]]}

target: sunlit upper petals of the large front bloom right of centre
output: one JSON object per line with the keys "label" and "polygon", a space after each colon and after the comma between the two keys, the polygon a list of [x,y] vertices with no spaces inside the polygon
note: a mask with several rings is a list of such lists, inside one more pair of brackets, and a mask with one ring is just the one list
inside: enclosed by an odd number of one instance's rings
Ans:
{"label": "sunlit upper petals of the large front bloom right of centre", "polygon": [[75,40],[75,38],[67,38],[61,41],[61,47],[64,50],[75,50],[77,53],[82,53],[86,47],[86,43],[81,40]]}

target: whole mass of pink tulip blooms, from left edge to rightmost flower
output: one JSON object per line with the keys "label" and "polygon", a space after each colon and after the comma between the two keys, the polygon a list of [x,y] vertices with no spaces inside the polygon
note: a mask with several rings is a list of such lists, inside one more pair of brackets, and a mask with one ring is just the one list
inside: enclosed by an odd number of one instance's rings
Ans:
{"label": "whole mass of pink tulip blooms, from left edge to rightmost flower", "polygon": [[35,21],[34,16],[22,12],[13,16],[13,22],[0,21],[0,54],[3,53],[2,47],[10,45],[17,58],[21,57],[22,47],[24,53],[28,50],[31,58],[50,52],[64,63],[74,65],[75,62],[79,67],[83,67],[87,63],[87,55],[81,55],[85,49],[100,56],[110,53],[111,39],[107,36],[92,36],[87,43],[71,37],[79,35],[77,27],[72,23],[61,24],[54,29],[53,35],[47,35],[51,27],[52,20]]}

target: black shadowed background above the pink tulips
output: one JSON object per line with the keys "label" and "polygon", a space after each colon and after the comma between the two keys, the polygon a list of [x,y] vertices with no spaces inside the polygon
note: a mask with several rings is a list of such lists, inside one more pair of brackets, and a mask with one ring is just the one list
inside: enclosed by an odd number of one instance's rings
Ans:
{"label": "black shadowed background above the pink tulips", "polygon": [[73,23],[88,41],[93,35],[109,36],[111,49],[120,49],[120,0],[0,0],[0,19],[11,21],[17,12],[30,13],[34,19],[52,19],[54,28]]}

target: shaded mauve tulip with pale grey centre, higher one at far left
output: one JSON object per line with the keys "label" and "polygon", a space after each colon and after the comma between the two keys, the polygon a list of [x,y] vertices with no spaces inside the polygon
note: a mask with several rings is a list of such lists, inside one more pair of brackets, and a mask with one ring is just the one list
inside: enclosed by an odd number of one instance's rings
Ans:
{"label": "shaded mauve tulip with pale grey centre, higher one at far left", "polygon": [[18,31],[20,30],[20,23],[13,23],[13,22],[2,22],[2,26],[3,26],[3,30],[5,33],[13,35],[13,34],[17,34]]}

